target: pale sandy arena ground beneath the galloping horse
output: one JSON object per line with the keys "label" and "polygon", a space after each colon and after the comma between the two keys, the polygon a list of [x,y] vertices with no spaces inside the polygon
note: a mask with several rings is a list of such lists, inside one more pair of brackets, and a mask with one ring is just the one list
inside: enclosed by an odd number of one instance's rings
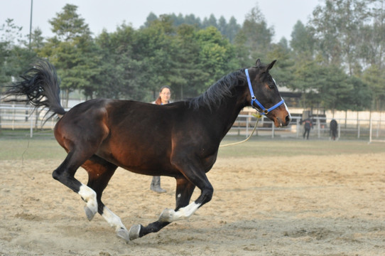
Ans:
{"label": "pale sandy arena ground beneath the galloping horse", "polygon": [[[58,164],[0,161],[0,255],[385,254],[385,154],[219,158],[210,203],[129,243],[100,215],[87,220],[80,196],[51,178]],[[175,206],[173,178],[164,194],[150,181],[118,169],[104,192],[127,228]]]}

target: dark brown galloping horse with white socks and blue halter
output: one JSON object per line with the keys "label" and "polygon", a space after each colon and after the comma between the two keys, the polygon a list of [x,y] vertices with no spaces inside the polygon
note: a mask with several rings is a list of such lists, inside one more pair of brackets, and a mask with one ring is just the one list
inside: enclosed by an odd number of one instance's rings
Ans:
{"label": "dark brown galloping horse with white socks and blue halter", "polygon": [[[119,237],[128,241],[188,218],[211,200],[213,188],[206,173],[242,108],[251,105],[273,120],[276,127],[291,121],[269,74],[275,62],[263,65],[256,60],[255,67],[225,75],[190,100],[161,106],[97,99],[66,112],[60,105],[55,68],[41,60],[21,76],[21,82],[9,88],[7,95],[26,95],[24,101],[48,107],[61,117],[55,126],[55,138],[67,151],[67,157],[53,171],[53,178],[82,197],[89,220],[98,212]],[[88,173],[87,185],[74,177],[80,166]],[[104,188],[118,166],[137,174],[174,177],[175,210],[166,208],[155,222],[134,225],[128,231],[102,203]],[[195,186],[201,193],[190,203]]]}

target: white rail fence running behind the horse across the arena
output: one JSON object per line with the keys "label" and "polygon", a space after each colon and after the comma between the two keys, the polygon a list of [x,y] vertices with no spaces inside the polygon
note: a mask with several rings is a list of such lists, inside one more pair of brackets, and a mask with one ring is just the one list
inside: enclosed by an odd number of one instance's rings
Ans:
{"label": "white rail fence running behind the horse across the arena", "polygon": [[[46,110],[33,111],[33,107],[21,105],[0,105],[0,128],[1,129],[26,129],[29,136],[41,129],[52,129],[55,127],[57,118],[44,122]],[[239,114],[230,129],[229,136],[248,137],[256,124],[256,117],[251,112]],[[313,117],[313,129],[310,130],[310,139],[329,139],[331,119],[325,117]],[[338,123],[338,138],[342,139],[368,139],[385,140],[385,120],[381,119],[343,119],[335,118]],[[276,128],[270,119],[262,117],[254,136],[270,138],[303,138],[303,125],[300,124],[299,114],[293,115],[288,127]]]}

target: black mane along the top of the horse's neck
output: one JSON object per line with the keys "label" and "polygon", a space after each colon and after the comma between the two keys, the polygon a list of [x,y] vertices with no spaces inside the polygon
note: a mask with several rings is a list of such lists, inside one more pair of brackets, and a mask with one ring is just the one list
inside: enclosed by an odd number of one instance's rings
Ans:
{"label": "black mane along the top of the horse's neck", "polygon": [[202,95],[190,99],[189,107],[197,110],[200,107],[208,107],[210,111],[217,110],[225,98],[232,97],[232,89],[244,85],[246,75],[244,68],[225,75],[223,78],[211,85]]}

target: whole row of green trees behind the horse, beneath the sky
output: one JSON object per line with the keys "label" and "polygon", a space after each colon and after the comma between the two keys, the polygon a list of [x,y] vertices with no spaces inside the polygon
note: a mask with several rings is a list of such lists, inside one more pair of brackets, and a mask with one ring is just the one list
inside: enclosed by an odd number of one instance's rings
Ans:
{"label": "whole row of green trees behind the horse, beneath the sky", "polygon": [[385,103],[385,0],[325,0],[308,23],[298,21],[291,38],[273,43],[259,6],[239,25],[209,18],[151,13],[139,29],[122,23],[92,35],[77,6],[66,4],[50,19],[52,37],[36,28],[29,38],[6,19],[0,27],[0,86],[36,58],[58,70],[63,98],[80,90],[87,99],[152,101],[168,85],[173,100],[195,97],[223,75],[257,58],[278,60],[278,86],[298,92],[294,107],[383,110]]}

